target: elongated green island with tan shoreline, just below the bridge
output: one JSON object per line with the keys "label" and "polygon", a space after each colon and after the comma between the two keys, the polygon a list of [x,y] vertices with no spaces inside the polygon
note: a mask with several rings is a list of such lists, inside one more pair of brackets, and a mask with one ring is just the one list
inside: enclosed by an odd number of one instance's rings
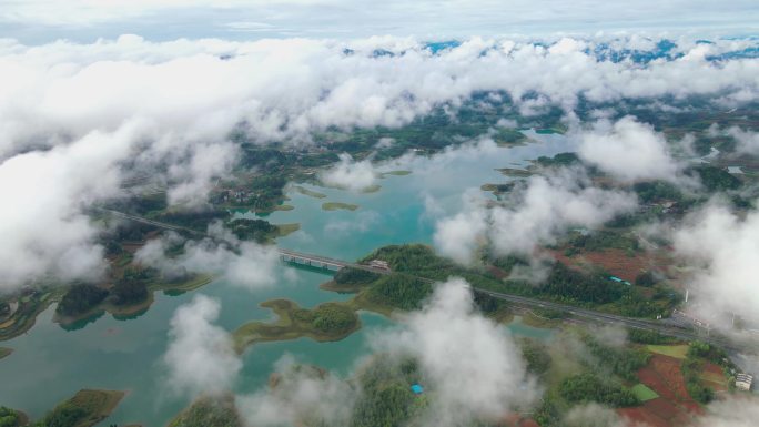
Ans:
{"label": "elongated green island with tan shoreline, just below the bridge", "polygon": [[263,342],[296,339],[303,336],[317,342],[340,340],[361,328],[355,308],[344,303],[324,303],[313,309],[301,308],[290,299],[261,303],[279,317],[274,323],[250,322],[233,334],[239,353]]}

